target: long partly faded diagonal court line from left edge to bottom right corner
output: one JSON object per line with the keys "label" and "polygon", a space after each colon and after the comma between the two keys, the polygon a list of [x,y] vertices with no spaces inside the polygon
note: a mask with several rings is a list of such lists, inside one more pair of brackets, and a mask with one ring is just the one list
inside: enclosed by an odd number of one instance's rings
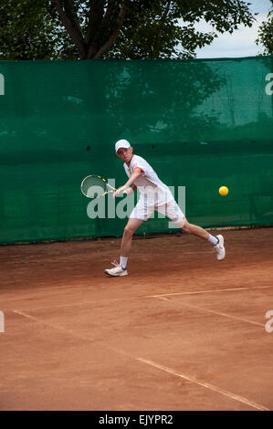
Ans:
{"label": "long partly faded diagonal court line from left edge to bottom right corner", "polygon": [[[48,327],[50,327],[50,328],[52,328],[54,330],[64,331],[64,332],[66,332],[66,333],[68,333],[68,334],[70,334],[70,335],[72,335],[72,336],[74,336],[74,337],[76,337],[76,338],[78,338],[80,340],[88,340],[88,341],[92,341],[93,340],[93,339],[91,339],[89,337],[86,337],[84,335],[76,334],[72,330],[66,330],[65,328],[59,327],[57,325],[52,325],[52,324],[50,324],[50,323],[48,323],[48,322],[46,322],[44,320],[39,320],[37,318],[34,318],[33,316],[30,316],[30,315],[28,315],[26,313],[23,313],[22,311],[14,310],[14,312],[17,313],[17,314],[19,314],[19,315],[21,315],[21,316],[23,316],[23,317],[25,317],[26,319],[35,320],[37,323],[43,324],[45,326],[48,326]],[[130,358],[133,361],[141,361],[142,363],[146,363],[148,365],[151,365],[154,368],[160,369],[162,371],[169,372],[169,373],[171,373],[173,375],[176,375],[177,377],[184,378],[184,380],[187,380],[188,382],[194,382],[195,384],[198,384],[199,386],[202,386],[202,387],[205,387],[206,389],[209,389],[211,391],[223,394],[223,395],[227,396],[228,398],[234,399],[235,401],[239,401],[241,403],[245,403],[245,404],[247,404],[250,407],[256,408],[257,410],[260,410],[260,411],[269,411],[269,409],[266,408],[266,407],[264,407],[263,405],[259,405],[257,403],[253,403],[251,401],[248,401],[247,398],[244,398],[242,396],[238,396],[238,395],[236,395],[235,393],[232,393],[232,392],[227,392],[224,389],[220,389],[220,388],[216,387],[213,384],[210,384],[210,383],[207,383],[207,382],[202,382],[200,380],[194,379],[194,377],[191,377],[189,375],[186,375],[186,374],[183,374],[183,373],[179,373],[177,371],[173,371],[172,369],[164,367],[163,365],[159,365],[158,363],[155,363],[153,361],[147,361],[147,360],[142,359],[142,358],[135,358],[134,356],[131,356],[127,351],[121,351],[121,350],[118,350],[116,348],[110,348],[110,347],[105,346],[105,345],[103,345],[103,347],[105,349],[109,350],[109,351],[116,351],[119,354],[121,354],[123,356],[126,356],[126,357]]]}

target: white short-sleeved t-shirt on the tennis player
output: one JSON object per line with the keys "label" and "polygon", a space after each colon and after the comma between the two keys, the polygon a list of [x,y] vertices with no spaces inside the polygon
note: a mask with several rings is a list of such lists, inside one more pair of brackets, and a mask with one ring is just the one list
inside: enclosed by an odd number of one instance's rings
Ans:
{"label": "white short-sleeved t-shirt on the tennis player", "polygon": [[135,168],[140,168],[142,170],[142,174],[133,184],[135,184],[140,191],[140,198],[145,199],[145,204],[153,206],[163,205],[173,200],[173,194],[168,186],[159,179],[151,165],[141,156],[132,155],[129,167],[125,162],[123,166],[129,178]]}

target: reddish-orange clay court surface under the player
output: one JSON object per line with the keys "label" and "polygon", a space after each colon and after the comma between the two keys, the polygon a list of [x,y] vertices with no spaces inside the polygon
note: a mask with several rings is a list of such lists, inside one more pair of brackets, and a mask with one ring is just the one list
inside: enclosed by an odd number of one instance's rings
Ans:
{"label": "reddish-orange clay court surface under the player", "polygon": [[222,234],[0,247],[0,409],[273,410],[273,228]]}

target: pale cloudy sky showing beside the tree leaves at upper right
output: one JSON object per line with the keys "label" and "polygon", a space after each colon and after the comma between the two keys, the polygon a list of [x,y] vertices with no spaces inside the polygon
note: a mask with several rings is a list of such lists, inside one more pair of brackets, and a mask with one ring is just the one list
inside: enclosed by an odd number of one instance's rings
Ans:
{"label": "pale cloudy sky showing beside the tree leaves at upper right", "polygon": [[[249,7],[253,13],[258,13],[257,22],[251,28],[239,26],[232,35],[229,33],[218,34],[218,38],[211,45],[196,49],[196,58],[254,57],[262,52],[262,47],[257,47],[255,40],[258,26],[267,19],[272,4],[270,0],[248,0],[247,3],[251,3]],[[212,27],[205,22],[200,22],[195,27],[200,31],[212,30]]]}

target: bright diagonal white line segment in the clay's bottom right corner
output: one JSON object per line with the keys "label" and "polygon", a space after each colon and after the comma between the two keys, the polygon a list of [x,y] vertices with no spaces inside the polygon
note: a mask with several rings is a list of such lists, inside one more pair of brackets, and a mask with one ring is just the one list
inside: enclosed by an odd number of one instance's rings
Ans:
{"label": "bright diagonal white line segment in the clay's bottom right corner", "polygon": [[210,384],[208,382],[202,382],[202,381],[197,380],[194,377],[191,377],[191,376],[186,375],[184,373],[173,371],[171,368],[167,368],[166,366],[159,365],[158,363],[155,363],[153,361],[148,361],[148,360],[142,359],[142,358],[136,358],[136,359],[137,359],[137,361],[141,361],[143,363],[146,363],[147,365],[151,365],[154,368],[158,368],[159,370],[169,372],[170,374],[176,375],[176,377],[183,378],[184,380],[187,380],[188,382],[194,382],[195,384],[198,384],[199,386],[205,387],[206,389],[209,389],[213,392],[223,394],[224,396],[227,396],[230,399],[234,399],[235,401],[239,401],[240,403],[245,403],[246,405],[248,405],[252,408],[256,408],[257,410],[270,411],[268,408],[264,407],[263,405],[260,405],[258,403],[253,403],[252,401],[249,401],[247,398],[244,398],[243,396],[236,395],[235,393],[232,393],[232,392],[227,392],[226,390],[220,389],[219,387],[216,387],[215,385]]}

